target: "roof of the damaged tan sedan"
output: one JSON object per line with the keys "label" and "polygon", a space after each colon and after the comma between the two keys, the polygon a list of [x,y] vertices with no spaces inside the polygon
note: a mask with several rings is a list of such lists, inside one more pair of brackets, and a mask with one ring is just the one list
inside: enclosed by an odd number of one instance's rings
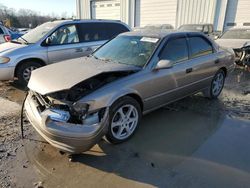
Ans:
{"label": "roof of the damaged tan sedan", "polygon": [[136,31],[122,33],[120,34],[120,36],[142,36],[142,37],[163,39],[167,36],[178,35],[178,34],[192,34],[192,35],[204,36],[200,32],[179,31],[179,30],[136,30]]}

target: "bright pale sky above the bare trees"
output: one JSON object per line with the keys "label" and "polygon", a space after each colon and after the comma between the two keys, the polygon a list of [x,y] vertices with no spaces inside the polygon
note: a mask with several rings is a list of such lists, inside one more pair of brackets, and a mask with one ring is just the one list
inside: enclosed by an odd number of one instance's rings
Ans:
{"label": "bright pale sky above the bare trees", "polygon": [[0,4],[8,8],[31,9],[42,15],[61,16],[67,13],[67,16],[76,15],[76,0],[0,0]]}

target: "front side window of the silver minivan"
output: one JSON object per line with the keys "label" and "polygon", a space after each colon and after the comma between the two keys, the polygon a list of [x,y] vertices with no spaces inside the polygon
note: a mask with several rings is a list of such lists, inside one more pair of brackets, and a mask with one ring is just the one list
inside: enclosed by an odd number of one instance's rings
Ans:
{"label": "front side window of the silver minivan", "polygon": [[60,27],[50,36],[50,39],[50,45],[73,44],[79,42],[75,25]]}

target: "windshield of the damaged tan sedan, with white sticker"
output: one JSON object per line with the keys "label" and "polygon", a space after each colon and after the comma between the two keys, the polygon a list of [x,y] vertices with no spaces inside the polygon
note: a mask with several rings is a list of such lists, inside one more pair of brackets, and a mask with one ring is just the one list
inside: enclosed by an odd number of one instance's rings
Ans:
{"label": "windshield of the damaged tan sedan, with white sticker", "polygon": [[98,59],[143,67],[154,52],[158,38],[142,36],[118,36],[97,50]]}

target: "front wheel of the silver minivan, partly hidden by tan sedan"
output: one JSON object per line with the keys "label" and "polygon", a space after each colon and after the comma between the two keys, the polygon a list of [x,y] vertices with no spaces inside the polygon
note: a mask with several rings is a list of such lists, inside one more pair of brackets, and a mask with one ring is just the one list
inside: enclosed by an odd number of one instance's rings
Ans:
{"label": "front wheel of the silver minivan, partly hidden by tan sedan", "polygon": [[31,72],[42,65],[38,62],[25,62],[18,66],[16,70],[16,77],[18,78],[18,83],[22,86],[27,86]]}

